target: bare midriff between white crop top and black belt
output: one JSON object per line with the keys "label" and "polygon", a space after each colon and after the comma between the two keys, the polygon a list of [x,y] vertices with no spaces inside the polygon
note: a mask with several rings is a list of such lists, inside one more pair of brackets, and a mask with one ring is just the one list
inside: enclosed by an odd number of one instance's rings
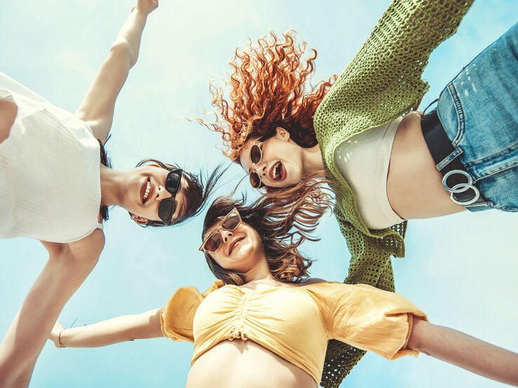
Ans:
{"label": "bare midriff between white crop top and black belt", "polygon": [[397,127],[387,176],[387,196],[403,219],[427,219],[463,212],[442,186],[442,175],[421,132],[421,115],[406,115]]}

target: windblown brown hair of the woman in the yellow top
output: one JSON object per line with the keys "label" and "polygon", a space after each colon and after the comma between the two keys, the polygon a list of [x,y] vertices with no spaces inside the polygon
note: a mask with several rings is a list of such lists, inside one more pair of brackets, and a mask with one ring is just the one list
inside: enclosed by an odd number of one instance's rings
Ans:
{"label": "windblown brown hair of the woman in the yellow top", "polygon": [[[274,279],[302,282],[307,278],[312,261],[303,256],[298,247],[305,240],[319,240],[312,233],[324,212],[333,207],[324,183],[328,182],[306,179],[295,202],[293,195],[286,192],[263,195],[250,205],[246,205],[246,195],[241,199],[220,197],[208,208],[201,238],[203,240],[206,231],[235,207],[241,219],[260,236]],[[225,284],[246,283],[243,273],[223,268],[210,254],[205,254],[205,258],[215,277]]]}

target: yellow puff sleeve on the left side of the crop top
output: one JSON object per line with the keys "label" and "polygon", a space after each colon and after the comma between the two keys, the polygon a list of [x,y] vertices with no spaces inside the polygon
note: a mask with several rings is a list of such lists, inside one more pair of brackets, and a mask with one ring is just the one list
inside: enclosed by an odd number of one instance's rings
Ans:
{"label": "yellow puff sleeve on the left side of the crop top", "polygon": [[192,322],[194,314],[206,296],[223,286],[223,282],[216,280],[204,293],[195,287],[182,287],[173,293],[160,314],[160,328],[162,335],[175,341],[194,342]]}

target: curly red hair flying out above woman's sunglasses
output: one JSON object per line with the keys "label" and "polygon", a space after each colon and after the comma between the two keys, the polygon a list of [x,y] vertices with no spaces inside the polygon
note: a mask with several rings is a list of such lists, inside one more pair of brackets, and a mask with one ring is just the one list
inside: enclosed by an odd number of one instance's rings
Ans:
{"label": "curly red hair flying out above woman's sunglasses", "polygon": [[295,44],[295,33],[288,31],[280,38],[259,38],[249,41],[244,50],[237,48],[230,62],[230,99],[223,89],[210,85],[212,104],[216,108],[214,123],[199,123],[220,132],[232,161],[239,162],[244,143],[252,137],[272,136],[275,128],[287,130],[299,146],[317,145],[313,116],[336,76],[317,85],[310,85],[317,50],[306,53],[306,43]]}

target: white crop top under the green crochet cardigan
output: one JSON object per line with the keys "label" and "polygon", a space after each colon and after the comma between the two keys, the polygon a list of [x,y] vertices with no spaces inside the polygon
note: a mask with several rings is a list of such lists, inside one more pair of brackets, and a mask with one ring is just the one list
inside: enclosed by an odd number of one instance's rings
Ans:
{"label": "white crop top under the green crochet cardigan", "polygon": [[390,207],[387,175],[392,143],[403,117],[347,139],[335,150],[338,171],[354,190],[361,219],[369,229],[405,221]]}

